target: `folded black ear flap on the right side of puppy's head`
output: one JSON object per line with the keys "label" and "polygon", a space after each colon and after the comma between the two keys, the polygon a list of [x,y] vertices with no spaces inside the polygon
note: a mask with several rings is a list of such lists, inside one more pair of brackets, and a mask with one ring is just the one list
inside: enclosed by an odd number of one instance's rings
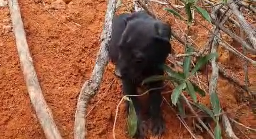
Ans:
{"label": "folded black ear flap on the right side of puppy's head", "polygon": [[170,39],[162,36],[154,37],[154,45],[157,47],[157,51],[163,55],[171,53]]}

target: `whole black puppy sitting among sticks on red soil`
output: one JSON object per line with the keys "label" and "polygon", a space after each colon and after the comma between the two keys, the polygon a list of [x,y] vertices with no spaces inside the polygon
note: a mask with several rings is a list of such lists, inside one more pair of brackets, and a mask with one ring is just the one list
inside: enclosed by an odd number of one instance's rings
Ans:
{"label": "whole black puppy sitting among sticks on red soil", "polygon": [[[125,95],[137,94],[137,87],[152,75],[162,75],[160,65],[165,63],[171,52],[169,43],[171,29],[163,22],[153,19],[146,12],[122,14],[114,18],[109,56],[122,78]],[[162,81],[146,84],[148,89],[163,86]],[[138,118],[137,136],[144,137],[141,124],[140,105],[136,97],[131,97]],[[165,129],[161,115],[161,90],[149,92],[149,112],[152,119],[152,133],[161,135]],[[127,109],[129,104],[126,105]]]}

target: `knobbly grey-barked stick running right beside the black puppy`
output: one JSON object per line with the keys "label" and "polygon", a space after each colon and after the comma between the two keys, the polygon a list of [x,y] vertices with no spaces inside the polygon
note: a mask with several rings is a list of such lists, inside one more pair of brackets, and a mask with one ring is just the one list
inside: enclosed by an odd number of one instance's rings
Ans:
{"label": "knobbly grey-barked stick running right beside the black puppy", "polygon": [[95,66],[90,80],[86,81],[79,94],[76,112],[75,112],[75,126],[74,138],[84,139],[86,135],[86,119],[85,111],[87,103],[95,95],[100,86],[102,76],[106,65],[108,64],[108,45],[111,39],[112,20],[116,9],[116,0],[108,0],[108,7],[105,15],[104,28],[101,35],[101,46],[98,52]]}

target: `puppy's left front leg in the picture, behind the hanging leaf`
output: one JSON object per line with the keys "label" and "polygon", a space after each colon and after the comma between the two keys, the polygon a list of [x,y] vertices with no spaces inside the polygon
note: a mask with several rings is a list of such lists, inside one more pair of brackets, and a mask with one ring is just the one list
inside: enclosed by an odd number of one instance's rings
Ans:
{"label": "puppy's left front leg in the picture, behind the hanging leaf", "polygon": [[[123,93],[124,95],[135,95],[137,94],[137,86],[136,84],[129,79],[122,78],[122,83],[123,83]],[[142,117],[141,117],[141,106],[139,104],[138,98],[137,97],[130,97],[133,106],[136,111],[137,115],[137,133],[135,134],[136,137],[144,138],[144,125],[142,124]],[[129,102],[126,102],[126,110],[127,110],[127,115],[129,112]]]}

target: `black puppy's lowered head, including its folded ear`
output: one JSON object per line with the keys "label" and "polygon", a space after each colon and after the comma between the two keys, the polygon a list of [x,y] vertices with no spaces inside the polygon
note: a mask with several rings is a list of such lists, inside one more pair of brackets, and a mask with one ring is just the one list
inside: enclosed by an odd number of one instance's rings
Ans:
{"label": "black puppy's lowered head, including its folded ear", "polygon": [[122,76],[137,78],[143,71],[164,63],[171,53],[170,36],[170,27],[160,21],[129,21],[119,42],[117,66]]}

